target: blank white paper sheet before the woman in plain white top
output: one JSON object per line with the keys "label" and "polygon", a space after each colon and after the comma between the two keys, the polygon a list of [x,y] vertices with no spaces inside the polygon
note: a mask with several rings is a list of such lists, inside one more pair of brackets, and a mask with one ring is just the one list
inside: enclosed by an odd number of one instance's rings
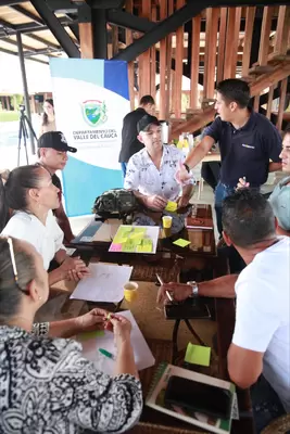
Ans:
{"label": "blank white paper sheet before the woman in plain white top", "polygon": [[118,303],[124,284],[130,280],[133,267],[111,264],[90,264],[91,276],[80,280],[71,298],[89,302]]}

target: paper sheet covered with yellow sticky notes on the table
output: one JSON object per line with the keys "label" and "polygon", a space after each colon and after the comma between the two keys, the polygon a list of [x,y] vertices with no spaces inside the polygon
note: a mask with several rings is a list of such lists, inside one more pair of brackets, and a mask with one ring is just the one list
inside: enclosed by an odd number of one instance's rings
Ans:
{"label": "paper sheet covered with yellow sticky notes on the table", "polygon": [[121,225],[109,252],[155,253],[160,228]]}

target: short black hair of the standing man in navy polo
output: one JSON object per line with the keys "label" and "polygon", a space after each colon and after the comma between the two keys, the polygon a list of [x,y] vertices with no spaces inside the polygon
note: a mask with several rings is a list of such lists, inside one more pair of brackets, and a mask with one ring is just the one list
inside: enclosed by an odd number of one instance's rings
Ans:
{"label": "short black hair of the standing man in navy polo", "polygon": [[228,78],[220,81],[216,90],[227,103],[236,102],[240,108],[248,107],[250,103],[251,94],[249,85],[238,78]]}

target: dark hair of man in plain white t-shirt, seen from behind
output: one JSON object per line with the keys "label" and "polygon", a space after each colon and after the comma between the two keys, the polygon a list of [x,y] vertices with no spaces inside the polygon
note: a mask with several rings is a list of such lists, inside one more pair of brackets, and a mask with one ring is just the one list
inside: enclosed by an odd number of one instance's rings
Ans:
{"label": "dark hair of man in plain white t-shirt, seen from behind", "polygon": [[254,189],[240,189],[223,203],[223,228],[234,244],[250,247],[275,235],[269,202]]}

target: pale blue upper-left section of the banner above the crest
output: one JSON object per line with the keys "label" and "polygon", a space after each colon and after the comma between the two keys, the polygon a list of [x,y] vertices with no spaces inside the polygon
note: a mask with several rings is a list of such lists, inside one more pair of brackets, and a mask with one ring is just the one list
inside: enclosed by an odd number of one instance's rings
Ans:
{"label": "pale blue upper-left section of the banner above the crest", "polygon": [[75,78],[104,86],[104,61],[101,59],[50,59],[49,65],[52,77]]}

